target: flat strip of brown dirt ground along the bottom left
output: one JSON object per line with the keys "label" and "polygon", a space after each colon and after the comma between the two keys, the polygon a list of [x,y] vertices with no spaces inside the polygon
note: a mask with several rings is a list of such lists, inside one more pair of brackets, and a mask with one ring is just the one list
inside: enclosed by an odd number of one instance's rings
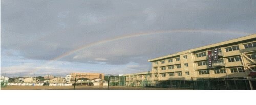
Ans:
{"label": "flat strip of brown dirt ground along the bottom left", "polygon": [[[74,86],[7,86],[1,90],[73,90]],[[75,90],[107,90],[107,86],[75,86]],[[109,86],[109,90],[181,90],[173,88]]]}

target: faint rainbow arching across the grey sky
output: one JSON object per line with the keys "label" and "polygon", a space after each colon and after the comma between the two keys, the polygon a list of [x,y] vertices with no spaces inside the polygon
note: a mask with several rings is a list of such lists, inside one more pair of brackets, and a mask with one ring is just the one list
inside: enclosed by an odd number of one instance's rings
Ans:
{"label": "faint rainbow arching across the grey sky", "polygon": [[[86,45],[83,45],[81,47],[78,47],[74,50],[71,50],[71,51],[68,51],[58,57],[55,57],[53,59],[51,59],[49,62],[47,62],[45,65],[42,65],[40,66],[39,68],[42,68],[42,67],[45,67],[47,66],[48,64],[56,61],[56,60],[59,60],[59,59],[62,59],[62,58],[65,58],[71,54],[74,54],[75,52],[78,52],[80,50],[83,50],[83,49],[86,49],[86,48],[89,48],[89,47],[93,47],[93,46],[97,46],[97,45],[100,45],[100,44],[104,44],[104,43],[108,43],[108,42],[112,42],[112,41],[117,41],[117,40],[121,40],[121,39],[127,39],[127,38],[133,38],[133,37],[141,37],[141,36],[147,36],[147,35],[155,35],[155,34],[164,34],[164,33],[189,33],[189,32],[192,32],[192,33],[195,33],[195,32],[204,32],[204,33],[228,33],[228,34],[243,34],[243,35],[250,35],[251,33],[244,33],[244,32],[236,32],[236,31],[223,31],[223,30],[169,30],[169,31],[153,31],[153,32],[146,32],[146,33],[134,33],[134,34],[126,34],[126,35],[122,35],[120,37],[115,37],[115,38],[112,38],[112,39],[106,39],[106,40],[102,40],[102,41],[98,41],[98,42],[93,42],[93,43],[90,43],[90,44],[86,44]],[[38,69],[35,69],[35,70],[32,70],[31,73],[29,74],[33,74],[35,71],[37,71]]]}

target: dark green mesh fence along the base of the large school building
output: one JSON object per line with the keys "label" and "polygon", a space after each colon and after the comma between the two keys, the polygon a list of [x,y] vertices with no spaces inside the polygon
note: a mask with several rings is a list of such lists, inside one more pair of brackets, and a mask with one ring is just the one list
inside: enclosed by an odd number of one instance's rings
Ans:
{"label": "dark green mesh fence along the base of the large school building", "polygon": [[156,87],[198,90],[250,90],[256,89],[256,79],[197,78],[194,80],[167,80],[156,82]]}

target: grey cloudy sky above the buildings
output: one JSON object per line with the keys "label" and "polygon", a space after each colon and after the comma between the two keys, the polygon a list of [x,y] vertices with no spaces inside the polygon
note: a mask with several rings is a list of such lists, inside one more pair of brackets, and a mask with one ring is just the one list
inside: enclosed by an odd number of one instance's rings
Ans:
{"label": "grey cloudy sky above the buildings", "polygon": [[[1,1],[1,75],[126,74],[256,33],[256,1]],[[210,40],[209,40],[210,39]]]}

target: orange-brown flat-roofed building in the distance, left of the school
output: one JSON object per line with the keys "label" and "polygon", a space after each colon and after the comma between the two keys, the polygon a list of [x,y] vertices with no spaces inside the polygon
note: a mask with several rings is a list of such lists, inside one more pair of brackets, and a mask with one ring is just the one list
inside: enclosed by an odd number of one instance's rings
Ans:
{"label": "orange-brown flat-roofed building in the distance, left of the school", "polygon": [[104,79],[104,74],[102,73],[71,73],[71,82],[75,82],[75,78],[78,80],[79,78],[88,78],[89,80],[93,80],[96,78]]}

